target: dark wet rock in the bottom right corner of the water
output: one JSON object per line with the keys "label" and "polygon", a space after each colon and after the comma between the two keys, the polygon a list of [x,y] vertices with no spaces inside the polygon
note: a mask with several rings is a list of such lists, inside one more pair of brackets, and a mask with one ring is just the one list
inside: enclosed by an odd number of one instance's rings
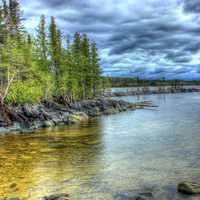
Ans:
{"label": "dark wet rock in the bottom right corner of the water", "polygon": [[179,183],[177,189],[184,194],[200,194],[200,184],[194,182]]}

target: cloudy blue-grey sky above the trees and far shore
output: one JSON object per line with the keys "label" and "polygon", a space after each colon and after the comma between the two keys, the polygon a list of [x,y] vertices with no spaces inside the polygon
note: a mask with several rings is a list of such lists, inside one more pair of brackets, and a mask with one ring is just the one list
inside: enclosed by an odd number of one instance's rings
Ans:
{"label": "cloudy blue-grey sky above the trees and far shore", "polygon": [[200,79],[200,0],[21,0],[26,27],[55,16],[64,35],[87,33],[112,76]]}

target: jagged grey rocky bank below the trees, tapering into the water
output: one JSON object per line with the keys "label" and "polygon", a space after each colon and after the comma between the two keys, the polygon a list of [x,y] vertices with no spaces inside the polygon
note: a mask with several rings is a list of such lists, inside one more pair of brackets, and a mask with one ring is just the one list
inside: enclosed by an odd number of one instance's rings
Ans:
{"label": "jagged grey rocky bank below the trees, tapering into the water", "polygon": [[24,104],[6,108],[6,114],[0,113],[0,133],[32,132],[147,106],[152,106],[151,102],[135,104],[110,98],[83,100],[65,106],[53,101],[35,105]]}

